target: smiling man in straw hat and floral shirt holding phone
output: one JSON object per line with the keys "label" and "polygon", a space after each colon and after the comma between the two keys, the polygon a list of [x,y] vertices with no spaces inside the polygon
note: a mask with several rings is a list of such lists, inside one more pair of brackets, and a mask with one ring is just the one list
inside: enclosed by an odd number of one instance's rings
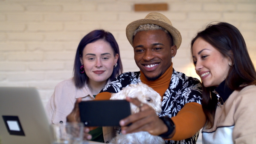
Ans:
{"label": "smiling man in straw hat and floral shirt holding phone", "polygon": [[[108,100],[111,93],[129,84],[148,84],[162,96],[162,112],[156,115],[147,104],[127,98],[141,111],[120,121],[121,132],[147,131],[160,135],[167,144],[195,144],[206,118],[201,107],[200,81],[172,68],[172,58],[181,43],[180,32],[166,16],[151,12],[144,19],[130,23],[126,36],[134,48],[140,72],[119,75],[95,99]],[[103,134],[105,142],[113,136],[109,127],[103,127]]]}

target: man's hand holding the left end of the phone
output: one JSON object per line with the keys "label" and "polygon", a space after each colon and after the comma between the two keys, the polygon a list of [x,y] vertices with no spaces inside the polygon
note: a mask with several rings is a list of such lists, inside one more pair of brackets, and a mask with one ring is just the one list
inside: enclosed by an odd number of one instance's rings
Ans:
{"label": "man's hand holding the left end of the phone", "polygon": [[[78,98],[75,103],[75,107],[72,112],[67,115],[67,122],[81,122],[80,121],[80,112],[79,112],[79,103],[82,101],[82,98]],[[92,135],[90,135],[90,129],[88,127],[84,127],[84,140],[90,140]]]}

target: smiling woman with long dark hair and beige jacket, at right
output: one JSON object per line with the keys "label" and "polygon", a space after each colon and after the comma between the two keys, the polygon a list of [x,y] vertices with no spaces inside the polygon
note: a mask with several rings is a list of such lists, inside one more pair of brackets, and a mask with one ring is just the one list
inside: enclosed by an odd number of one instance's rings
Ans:
{"label": "smiling woman with long dark hair and beige jacket, at right", "polygon": [[209,24],[192,40],[191,53],[203,84],[203,143],[255,143],[256,72],[239,30]]}

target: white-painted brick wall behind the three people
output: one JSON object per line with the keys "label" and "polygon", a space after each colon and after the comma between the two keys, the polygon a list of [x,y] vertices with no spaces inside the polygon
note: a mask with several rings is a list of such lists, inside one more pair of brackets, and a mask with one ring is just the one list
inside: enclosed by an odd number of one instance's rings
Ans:
{"label": "white-painted brick wall behind the three people", "polygon": [[189,44],[211,21],[238,27],[256,66],[256,0],[0,0],[0,86],[35,86],[45,105],[55,85],[72,77],[79,41],[93,29],[116,37],[124,72],[139,70],[125,28],[149,13],[134,12],[135,3],[159,2],[168,3],[161,13],[183,37],[177,71],[197,77]]}

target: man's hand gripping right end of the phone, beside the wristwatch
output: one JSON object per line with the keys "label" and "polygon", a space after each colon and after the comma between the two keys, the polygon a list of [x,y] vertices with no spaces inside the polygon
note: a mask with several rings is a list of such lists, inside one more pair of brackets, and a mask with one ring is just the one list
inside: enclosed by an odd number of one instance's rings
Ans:
{"label": "man's hand gripping right end of the phone, beside the wristwatch", "polygon": [[[134,98],[127,97],[126,100],[140,107],[140,112],[130,115],[119,122],[122,134],[147,131],[151,135],[160,135],[168,131],[168,127],[156,115],[154,109]],[[131,125],[128,126],[128,124]]]}

